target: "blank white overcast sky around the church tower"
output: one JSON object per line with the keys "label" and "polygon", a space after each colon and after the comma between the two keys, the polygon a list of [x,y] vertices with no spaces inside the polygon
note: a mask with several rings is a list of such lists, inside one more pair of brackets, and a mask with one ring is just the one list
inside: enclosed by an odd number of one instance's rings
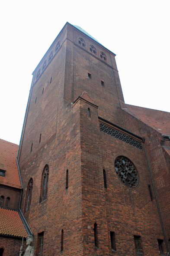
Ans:
{"label": "blank white overcast sky around the church tower", "polygon": [[66,22],[116,54],[125,103],[170,112],[169,0],[0,3],[0,138],[19,144],[38,65]]}

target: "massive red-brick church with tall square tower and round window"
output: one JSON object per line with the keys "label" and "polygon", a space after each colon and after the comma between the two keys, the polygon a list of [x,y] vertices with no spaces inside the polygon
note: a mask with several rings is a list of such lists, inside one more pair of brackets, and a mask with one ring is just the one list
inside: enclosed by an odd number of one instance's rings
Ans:
{"label": "massive red-brick church with tall square tower and round window", "polygon": [[78,26],[33,72],[17,161],[36,256],[169,256],[170,113],[125,104],[115,54]]}

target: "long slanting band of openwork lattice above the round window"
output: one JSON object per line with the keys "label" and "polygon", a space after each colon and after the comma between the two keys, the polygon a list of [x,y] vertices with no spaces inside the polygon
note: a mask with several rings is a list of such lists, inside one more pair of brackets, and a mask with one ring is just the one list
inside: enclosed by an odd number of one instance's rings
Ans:
{"label": "long slanting band of openwork lattice above the round window", "polygon": [[125,141],[126,143],[128,143],[136,148],[143,149],[140,141],[137,141],[134,138],[131,138],[130,136],[125,135],[124,133],[115,130],[114,128],[111,128],[108,125],[100,123],[100,131],[103,131],[115,138],[118,138],[121,141]]}

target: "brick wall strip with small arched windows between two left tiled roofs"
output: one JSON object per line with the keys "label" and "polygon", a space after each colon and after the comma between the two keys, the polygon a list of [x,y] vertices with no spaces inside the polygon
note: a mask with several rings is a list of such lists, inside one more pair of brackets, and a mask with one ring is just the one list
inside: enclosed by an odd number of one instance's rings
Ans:
{"label": "brick wall strip with small arched windows between two left tiled roofs", "polygon": [[0,197],[3,196],[3,207],[6,207],[6,198],[10,197],[9,208],[13,210],[19,209],[21,191],[9,187],[0,186]]}

